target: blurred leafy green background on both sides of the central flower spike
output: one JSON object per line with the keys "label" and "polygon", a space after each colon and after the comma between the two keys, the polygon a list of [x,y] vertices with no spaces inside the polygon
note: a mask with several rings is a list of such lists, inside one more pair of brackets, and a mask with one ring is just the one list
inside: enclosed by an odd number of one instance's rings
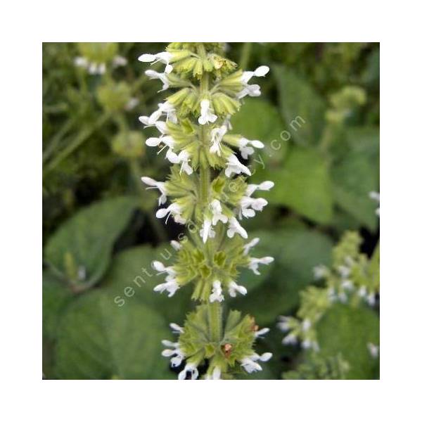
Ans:
{"label": "blurred leafy green background on both sides of the central flower spike", "polygon": [[[168,257],[180,226],[155,219],[157,196],[141,186],[143,174],[164,179],[168,163],[145,147],[153,131],[137,118],[166,96],[137,57],[163,49],[43,44],[44,378],[175,378],[160,340],[192,304],[188,288],[171,299],[152,292],[159,277],[151,261]],[[246,99],[232,119],[234,132],[266,144],[250,160],[252,181],[276,183],[262,214],[245,222],[261,238],[256,255],[276,260],[261,276],[242,273],[248,295],[226,304],[271,328],[261,344],[274,357],[248,379],[377,378],[367,351],[353,367],[345,345],[378,330],[378,306],[331,309],[319,328],[329,354],[283,345],[275,324],[298,309],[300,291],[315,283],[312,269],[330,264],[344,231],[359,231],[369,256],[378,242],[369,192],[379,191],[379,44],[226,50],[245,70],[271,69],[262,96]]]}

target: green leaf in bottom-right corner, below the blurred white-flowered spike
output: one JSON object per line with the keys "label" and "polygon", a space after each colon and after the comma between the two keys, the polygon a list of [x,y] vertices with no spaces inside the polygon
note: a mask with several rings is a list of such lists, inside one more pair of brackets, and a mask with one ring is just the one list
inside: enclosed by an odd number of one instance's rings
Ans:
{"label": "green leaf in bottom-right corner, below the blurred white-flowered spike", "polygon": [[347,379],[373,379],[379,360],[371,357],[368,343],[379,346],[380,321],[368,307],[334,305],[316,325],[321,357],[341,353],[350,364]]}

